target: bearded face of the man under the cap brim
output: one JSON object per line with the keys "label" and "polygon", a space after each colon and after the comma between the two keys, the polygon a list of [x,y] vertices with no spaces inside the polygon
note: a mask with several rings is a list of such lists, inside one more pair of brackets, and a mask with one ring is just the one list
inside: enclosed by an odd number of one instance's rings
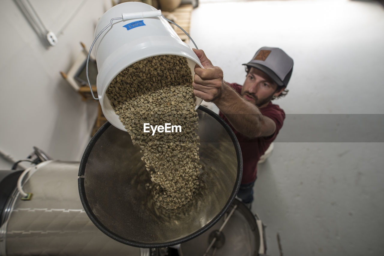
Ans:
{"label": "bearded face of the man under the cap brim", "polygon": [[276,92],[277,84],[256,68],[251,68],[241,90],[241,96],[258,107],[265,107],[280,92]]}

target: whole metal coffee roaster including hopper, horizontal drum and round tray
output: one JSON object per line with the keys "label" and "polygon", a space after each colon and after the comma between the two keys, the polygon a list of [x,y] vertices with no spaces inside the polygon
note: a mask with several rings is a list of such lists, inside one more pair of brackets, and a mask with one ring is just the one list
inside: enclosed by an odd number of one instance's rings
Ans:
{"label": "whole metal coffee roaster including hopper, horizontal drum and round tray", "polygon": [[264,254],[260,219],[235,198],[238,142],[214,112],[197,112],[207,189],[183,212],[164,219],[147,208],[139,149],[107,122],[80,163],[35,148],[32,167],[0,172],[0,255]]}

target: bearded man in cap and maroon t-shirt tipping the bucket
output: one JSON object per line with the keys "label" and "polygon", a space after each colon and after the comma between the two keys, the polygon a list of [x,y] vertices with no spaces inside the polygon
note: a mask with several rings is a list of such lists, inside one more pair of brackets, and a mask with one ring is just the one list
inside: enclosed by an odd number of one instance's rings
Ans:
{"label": "bearded man in cap and maroon t-shirt tipping the bucket", "polygon": [[251,208],[257,162],[283,126],[285,113],[271,100],[285,96],[293,59],[279,48],[262,47],[246,66],[243,86],[223,81],[204,51],[195,50],[203,68],[195,66],[194,94],[212,101],[235,133],[243,155],[243,177],[237,196]]}

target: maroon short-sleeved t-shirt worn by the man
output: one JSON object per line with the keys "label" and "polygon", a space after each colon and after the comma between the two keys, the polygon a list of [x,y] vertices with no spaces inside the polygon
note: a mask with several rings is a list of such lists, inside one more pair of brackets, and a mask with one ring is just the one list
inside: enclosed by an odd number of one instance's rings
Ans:
{"label": "maroon short-sleeved t-shirt worn by the man", "polygon": [[[239,94],[241,92],[242,86],[240,84],[229,84],[233,89],[235,89]],[[269,104],[265,107],[259,108],[263,116],[267,116],[276,123],[275,133],[268,137],[258,137],[254,139],[249,139],[247,136],[241,134],[228,121],[227,117],[220,111],[219,115],[224,119],[225,122],[231,127],[235,133],[237,140],[240,144],[240,148],[243,155],[243,178],[242,184],[251,183],[256,179],[257,175],[257,162],[260,157],[264,154],[265,150],[268,149],[269,145],[273,140],[275,140],[279,130],[283,126],[283,121],[285,119],[285,112],[278,105]]]}

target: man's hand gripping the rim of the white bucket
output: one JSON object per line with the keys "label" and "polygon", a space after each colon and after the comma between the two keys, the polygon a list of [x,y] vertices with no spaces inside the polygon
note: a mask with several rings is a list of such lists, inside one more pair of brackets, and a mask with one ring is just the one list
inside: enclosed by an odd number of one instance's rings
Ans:
{"label": "man's hand gripping the rim of the white bucket", "polygon": [[192,83],[196,97],[204,101],[214,101],[221,96],[223,87],[223,71],[219,67],[212,65],[211,61],[205,56],[203,50],[192,49],[204,68],[198,64],[195,66],[195,76]]}

